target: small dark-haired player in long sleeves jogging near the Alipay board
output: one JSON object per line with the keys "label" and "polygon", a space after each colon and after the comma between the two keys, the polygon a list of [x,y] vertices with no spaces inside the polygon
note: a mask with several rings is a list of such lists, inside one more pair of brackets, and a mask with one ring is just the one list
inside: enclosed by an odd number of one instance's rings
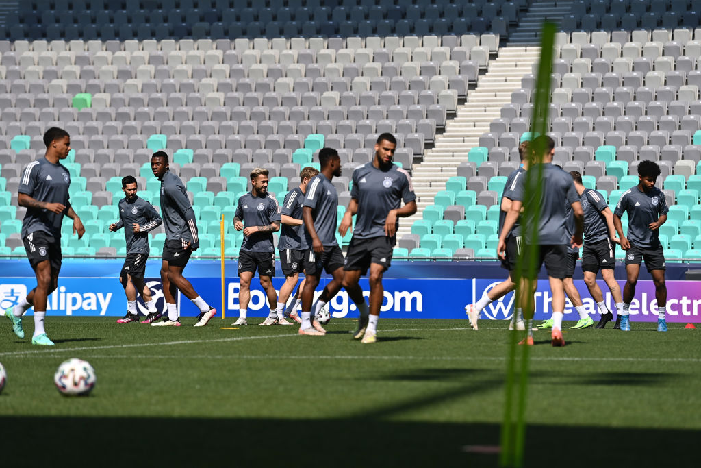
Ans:
{"label": "small dark-haired player in long sleeves jogging near the Alipay board", "polygon": [[125,197],[119,201],[119,220],[109,225],[109,230],[112,232],[124,228],[124,239],[127,243],[127,257],[119,273],[119,282],[122,283],[127,296],[127,313],[117,323],[139,321],[136,306],[137,291],[141,294],[149,311],[149,315],[142,323],[151,323],[160,315],[156,312],[154,300],[151,299],[151,289],[144,283],[144,271],[146,261],[149,259],[149,231],[160,226],[163,220],[151,203],[139,198],[136,194],[137,182],[133,175],[122,178],[122,191]]}

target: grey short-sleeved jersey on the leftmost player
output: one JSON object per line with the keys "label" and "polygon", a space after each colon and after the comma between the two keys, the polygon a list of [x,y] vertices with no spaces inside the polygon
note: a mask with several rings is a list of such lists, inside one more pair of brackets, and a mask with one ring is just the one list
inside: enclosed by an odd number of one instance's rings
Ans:
{"label": "grey short-sleeved jersey on the leftmost player", "polygon": [[[18,193],[29,195],[36,201],[68,206],[69,185],[71,176],[68,169],[60,163],[50,163],[44,157],[27,165],[22,173]],[[43,208],[27,208],[27,214],[22,221],[22,237],[42,231],[60,239],[64,214],[53,213]]]}

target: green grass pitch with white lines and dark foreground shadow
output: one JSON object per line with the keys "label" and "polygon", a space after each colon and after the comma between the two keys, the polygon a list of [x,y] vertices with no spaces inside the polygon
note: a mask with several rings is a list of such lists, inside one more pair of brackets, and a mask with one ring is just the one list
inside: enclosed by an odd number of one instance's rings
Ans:
{"label": "green grass pitch with white lines and dark foreground shadow", "polygon": [[[204,328],[115,320],[49,317],[52,349],[0,322],[2,466],[498,464],[505,323],[381,319],[379,341],[362,345],[350,319],[325,337],[224,330],[233,319],[218,316]],[[562,349],[536,332],[526,467],[698,466],[700,332],[654,327],[570,330]],[[95,367],[89,397],[53,386],[71,357]]]}

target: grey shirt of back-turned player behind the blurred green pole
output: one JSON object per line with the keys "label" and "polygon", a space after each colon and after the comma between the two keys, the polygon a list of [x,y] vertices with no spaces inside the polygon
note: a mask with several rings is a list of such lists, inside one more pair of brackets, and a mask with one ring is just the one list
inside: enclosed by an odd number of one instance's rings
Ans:
{"label": "grey shirt of back-turned player behind the blurred green pole", "polygon": [[[538,165],[529,169],[529,177],[538,175]],[[525,178],[519,178],[519,184],[525,187]],[[572,176],[561,168],[553,166],[552,163],[543,163],[543,189],[540,193],[540,200],[529,200],[537,202],[540,206],[540,219],[538,220],[538,244],[545,245],[566,245],[570,243],[571,234],[567,235],[567,213],[566,205],[571,205],[579,201],[579,196],[574,189]],[[529,195],[519,194],[523,199]],[[531,196],[532,197],[532,196]],[[515,200],[518,200],[515,198]],[[524,201],[524,200],[521,200]]]}

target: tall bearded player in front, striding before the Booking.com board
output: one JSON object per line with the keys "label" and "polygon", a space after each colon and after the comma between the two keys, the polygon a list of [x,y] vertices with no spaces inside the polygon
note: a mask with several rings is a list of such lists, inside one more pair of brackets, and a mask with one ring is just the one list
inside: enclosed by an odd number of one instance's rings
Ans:
{"label": "tall bearded player in front, striding before the Booking.com board", "polygon": [[[343,287],[360,312],[358,330],[353,337],[362,338],[363,343],[377,340],[377,321],[384,300],[382,276],[392,261],[399,218],[416,213],[416,195],[409,173],[392,162],[396,147],[394,135],[382,133],[375,142],[372,161],[353,171],[351,202],[339,227],[341,235],[346,235],[353,224],[353,215],[358,213],[343,267]],[[358,285],[368,268],[369,311]]]}

